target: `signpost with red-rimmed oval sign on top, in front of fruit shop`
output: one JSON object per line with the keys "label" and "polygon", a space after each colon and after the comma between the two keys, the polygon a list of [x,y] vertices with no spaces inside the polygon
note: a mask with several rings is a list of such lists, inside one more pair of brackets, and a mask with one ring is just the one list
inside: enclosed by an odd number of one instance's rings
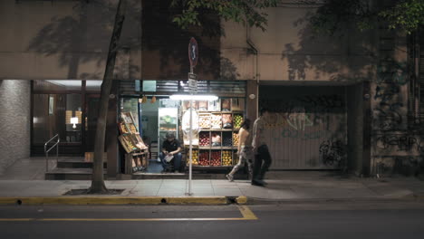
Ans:
{"label": "signpost with red-rimmed oval sign on top, in front of fruit shop", "polygon": [[[198,79],[196,74],[193,72],[194,67],[198,64],[198,42],[194,37],[191,37],[188,43],[188,60],[190,62],[190,72],[188,73],[188,90],[190,95],[198,91]],[[189,120],[189,130],[188,130],[188,141],[189,141],[189,163],[188,163],[188,195],[191,196],[192,188],[192,164],[193,164],[193,143],[192,143],[192,130],[193,130],[193,99],[190,99],[190,120]]]}

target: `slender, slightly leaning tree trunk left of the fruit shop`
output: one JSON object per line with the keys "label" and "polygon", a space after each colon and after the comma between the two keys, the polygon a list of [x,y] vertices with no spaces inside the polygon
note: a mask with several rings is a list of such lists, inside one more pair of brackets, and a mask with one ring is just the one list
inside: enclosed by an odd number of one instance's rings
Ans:
{"label": "slender, slightly leaning tree trunk left of the fruit shop", "polygon": [[106,117],[108,114],[109,95],[111,93],[111,85],[113,81],[113,69],[115,68],[116,53],[118,52],[118,43],[120,41],[120,33],[125,19],[125,10],[127,0],[120,0],[116,10],[115,24],[111,35],[111,43],[109,45],[108,59],[106,62],[106,70],[101,83],[101,100],[99,109],[99,118],[97,121],[96,138],[94,141],[94,162],[92,167],[92,186],[89,193],[98,194],[108,191],[104,185],[103,177],[103,154],[104,141],[106,134]]}

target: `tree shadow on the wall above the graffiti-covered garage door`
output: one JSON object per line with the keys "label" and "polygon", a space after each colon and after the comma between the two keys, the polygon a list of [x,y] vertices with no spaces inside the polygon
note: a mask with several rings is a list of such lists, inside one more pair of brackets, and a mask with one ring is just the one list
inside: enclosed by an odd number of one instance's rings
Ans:
{"label": "tree shadow on the wall above the graffiti-covered garage door", "polygon": [[294,27],[302,27],[297,33],[299,42],[285,44],[282,52],[282,60],[288,62],[288,80],[353,83],[371,79],[370,70],[376,62],[376,49],[366,37],[367,34],[346,26],[347,30],[341,33],[317,35],[309,23],[312,15],[306,14],[294,22]]}

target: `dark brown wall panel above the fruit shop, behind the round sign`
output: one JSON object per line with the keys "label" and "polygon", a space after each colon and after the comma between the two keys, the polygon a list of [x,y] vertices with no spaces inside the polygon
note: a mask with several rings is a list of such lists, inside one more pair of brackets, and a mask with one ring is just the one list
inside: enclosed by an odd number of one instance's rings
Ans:
{"label": "dark brown wall panel above the fruit shop, behind the round sign", "polygon": [[[143,1],[143,75],[159,79],[187,79],[190,71],[188,41],[194,37],[198,42],[199,80],[216,80],[220,68],[220,35],[223,33],[219,18],[211,12],[200,12],[200,26],[181,29],[172,23],[178,9],[169,8],[169,0]],[[151,59],[159,53],[159,60]],[[159,67],[157,64],[159,63]],[[156,70],[155,70],[156,69]]]}

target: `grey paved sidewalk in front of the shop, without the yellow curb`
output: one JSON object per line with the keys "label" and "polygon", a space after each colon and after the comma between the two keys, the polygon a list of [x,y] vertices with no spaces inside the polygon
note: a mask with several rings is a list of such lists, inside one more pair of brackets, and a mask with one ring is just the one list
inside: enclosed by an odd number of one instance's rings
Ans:
{"label": "grey paved sidewalk in front of the shop, without the yellow curb", "polygon": [[[248,202],[302,202],[331,200],[424,200],[424,181],[417,177],[342,178],[328,172],[278,172],[278,179],[267,179],[268,186],[251,186],[247,180],[192,181],[192,196],[187,196],[188,180],[109,180],[109,189],[123,189],[120,195],[63,196],[71,189],[87,189],[91,181],[0,180],[2,198],[19,197],[237,197]],[[270,177],[275,178],[271,172]]]}

